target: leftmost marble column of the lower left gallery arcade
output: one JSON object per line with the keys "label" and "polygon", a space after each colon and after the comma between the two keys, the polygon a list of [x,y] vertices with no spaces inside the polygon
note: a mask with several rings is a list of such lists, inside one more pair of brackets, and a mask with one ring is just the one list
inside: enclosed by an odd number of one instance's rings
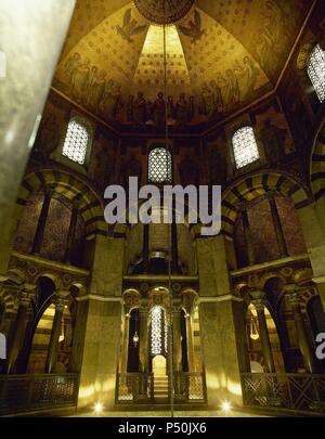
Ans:
{"label": "leftmost marble column of the lower left gallery arcade", "polygon": [[13,338],[9,348],[6,373],[11,374],[15,372],[16,361],[20,351],[24,345],[25,330],[27,323],[28,308],[30,300],[34,296],[36,286],[31,284],[25,284],[24,288],[18,295],[18,310],[16,320],[13,327]]}

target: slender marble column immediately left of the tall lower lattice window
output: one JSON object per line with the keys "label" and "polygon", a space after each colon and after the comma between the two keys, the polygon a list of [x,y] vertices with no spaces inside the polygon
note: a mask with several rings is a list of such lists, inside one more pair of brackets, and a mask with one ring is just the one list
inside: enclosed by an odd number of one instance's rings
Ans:
{"label": "slender marble column immediately left of the tall lower lattice window", "polygon": [[148,372],[148,309],[145,306],[141,306],[139,310],[140,317],[140,372],[142,375],[140,383],[140,395],[146,398],[147,386],[147,372]]}

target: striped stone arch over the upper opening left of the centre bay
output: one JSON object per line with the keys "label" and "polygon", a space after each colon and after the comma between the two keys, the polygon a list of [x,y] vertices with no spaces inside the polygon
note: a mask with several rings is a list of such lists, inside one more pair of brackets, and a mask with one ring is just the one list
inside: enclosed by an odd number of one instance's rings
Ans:
{"label": "striped stone arch over the upper opening left of the centre bay", "polygon": [[53,188],[55,193],[69,201],[78,201],[79,212],[86,224],[86,236],[107,235],[108,228],[104,219],[104,206],[101,197],[81,177],[72,171],[48,168],[30,171],[23,180],[16,203],[25,206],[28,197],[36,192]]}

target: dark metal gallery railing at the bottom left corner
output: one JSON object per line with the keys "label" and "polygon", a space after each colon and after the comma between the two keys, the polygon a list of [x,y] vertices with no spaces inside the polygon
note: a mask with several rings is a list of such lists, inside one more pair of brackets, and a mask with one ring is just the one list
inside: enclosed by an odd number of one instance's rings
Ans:
{"label": "dark metal gallery railing at the bottom left corner", "polygon": [[0,415],[76,406],[79,375],[0,375]]}

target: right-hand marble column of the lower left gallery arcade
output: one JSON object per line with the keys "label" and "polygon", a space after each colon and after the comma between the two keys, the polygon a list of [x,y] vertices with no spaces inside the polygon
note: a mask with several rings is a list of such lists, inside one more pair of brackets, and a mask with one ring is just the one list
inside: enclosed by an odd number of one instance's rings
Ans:
{"label": "right-hand marble column of the lower left gallery arcade", "polygon": [[[68,293],[67,293],[68,294]],[[66,295],[65,295],[66,296]],[[50,345],[48,349],[48,357],[46,362],[46,370],[47,374],[55,373],[56,361],[57,361],[57,352],[58,352],[58,339],[62,330],[62,319],[64,313],[65,307],[65,296],[58,295],[55,299],[55,314],[51,331],[51,338]]]}

